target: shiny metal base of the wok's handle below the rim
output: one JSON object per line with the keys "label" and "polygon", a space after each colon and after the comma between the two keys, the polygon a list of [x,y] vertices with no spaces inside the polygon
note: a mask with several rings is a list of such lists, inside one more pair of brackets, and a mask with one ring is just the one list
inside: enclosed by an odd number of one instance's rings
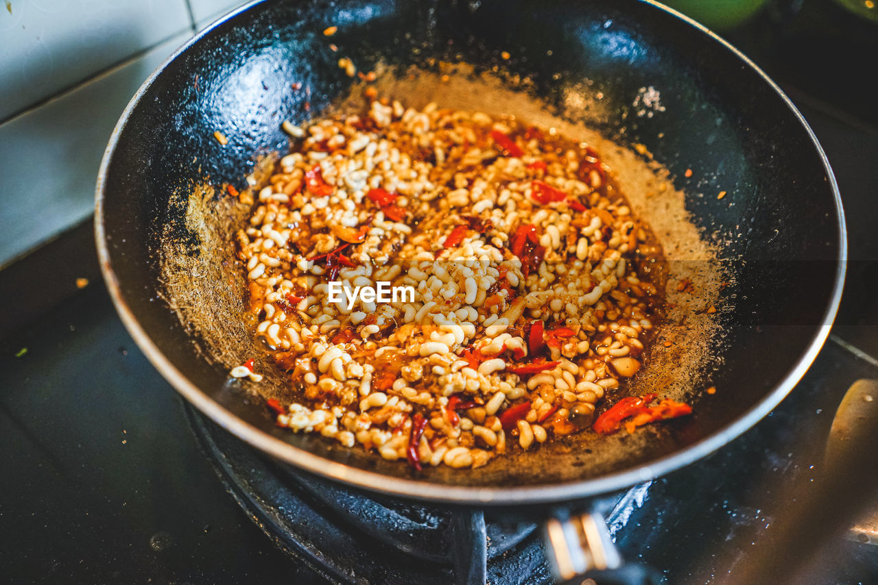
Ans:
{"label": "shiny metal base of the wok's handle below the rim", "polygon": [[543,537],[546,558],[559,583],[579,585],[584,574],[600,578],[601,585],[659,582],[658,575],[649,567],[623,563],[607,522],[599,513],[551,518],[545,524]]}

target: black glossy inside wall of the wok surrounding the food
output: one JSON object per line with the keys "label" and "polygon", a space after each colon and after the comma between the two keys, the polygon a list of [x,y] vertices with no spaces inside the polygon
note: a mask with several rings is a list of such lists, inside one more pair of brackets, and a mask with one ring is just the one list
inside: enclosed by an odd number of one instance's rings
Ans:
{"label": "black glossy inside wall of the wok surrounding the food", "polygon": [[[329,25],[339,29],[331,41],[322,35]],[[380,63],[433,70],[439,61],[497,68],[510,86],[568,115],[572,96],[601,92],[603,107],[579,109],[574,121],[646,146],[677,177],[695,225],[730,271],[719,367],[705,372],[718,391],[694,397],[694,417],[631,436],[583,433],[417,479],[580,482],[678,452],[765,398],[828,325],[841,234],[824,162],[774,89],[705,33],[633,1],[265,2],[207,32],[155,78],[121,128],[104,178],[106,242],[123,301],[174,367],[232,416],[327,459],[413,477],[403,462],[277,429],[263,400],[227,379],[230,364],[259,353],[241,320],[244,281],[233,261],[246,210],[205,185],[243,189],[255,161],[289,148],[284,119],[303,122],[346,95],[354,80],[337,67],[340,56],[361,71]],[[292,89],[299,84],[310,95]],[[638,116],[633,100],[649,86],[660,89],[664,111]],[[213,138],[217,130],[227,145]],[[730,196],[717,199],[721,190]],[[162,268],[169,258],[172,283]],[[175,310],[192,303],[210,317],[181,323]],[[270,361],[263,366],[270,371]],[[265,386],[282,380],[270,375]]]}

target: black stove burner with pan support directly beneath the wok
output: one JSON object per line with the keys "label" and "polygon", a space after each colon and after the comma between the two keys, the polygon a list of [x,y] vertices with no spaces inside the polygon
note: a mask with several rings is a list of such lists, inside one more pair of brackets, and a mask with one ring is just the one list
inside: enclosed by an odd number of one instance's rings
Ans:
{"label": "black stove burner with pan support directly beneath the wok", "polygon": [[[499,511],[431,508],[345,489],[265,458],[188,403],[184,410],[199,445],[248,517],[275,545],[330,581],[553,581],[532,522]],[[614,532],[635,500],[628,494],[615,506],[609,519]]]}

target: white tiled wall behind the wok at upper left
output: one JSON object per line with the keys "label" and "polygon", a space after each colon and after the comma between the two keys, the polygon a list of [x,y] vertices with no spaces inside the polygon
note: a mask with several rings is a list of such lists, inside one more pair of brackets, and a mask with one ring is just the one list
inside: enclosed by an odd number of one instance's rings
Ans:
{"label": "white tiled wall behind the wok at upper left", "polygon": [[0,267],[90,216],[107,140],[140,83],[240,4],[0,3]]}

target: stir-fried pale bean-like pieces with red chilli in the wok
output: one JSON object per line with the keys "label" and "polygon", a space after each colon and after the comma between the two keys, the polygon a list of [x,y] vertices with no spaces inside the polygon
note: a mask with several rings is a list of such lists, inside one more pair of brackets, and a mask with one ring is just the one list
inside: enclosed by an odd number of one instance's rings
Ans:
{"label": "stir-fried pale bean-like pieces with red chilli in the wok", "polygon": [[[300,139],[238,233],[255,336],[294,396],[271,401],[277,424],[479,467],[624,396],[660,248],[592,149],[435,104],[286,126]],[[259,379],[252,362],[233,375]],[[630,431],[688,412],[639,400]]]}

